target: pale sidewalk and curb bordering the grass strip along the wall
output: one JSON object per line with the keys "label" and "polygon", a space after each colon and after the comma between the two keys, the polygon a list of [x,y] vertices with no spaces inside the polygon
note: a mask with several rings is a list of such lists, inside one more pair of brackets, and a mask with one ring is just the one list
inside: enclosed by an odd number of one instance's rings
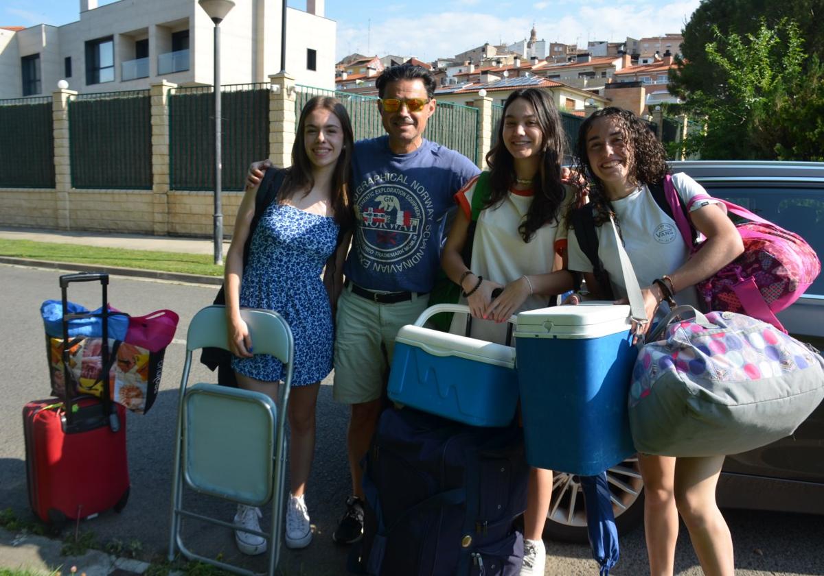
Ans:
{"label": "pale sidewalk and curb bordering the grass strip along the wall", "polygon": [[[210,238],[182,238],[177,236],[150,236],[138,234],[116,234],[102,232],[83,232],[72,230],[38,230],[34,228],[12,228],[0,226],[0,239],[32,240],[54,244],[83,244],[101,248],[125,248],[132,250],[157,250],[160,252],[177,252],[190,254],[213,254],[214,244]],[[223,257],[226,257],[229,242],[223,241]],[[0,257],[0,262],[21,266],[36,266],[76,270],[78,272],[108,272],[120,276],[141,276],[159,280],[194,282],[220,286],[220,276],[199,276],[178,272],[159,272],[156,270],[138,270],[135,268],[106,267],[99,265],[77,264],[70,262],[46,262],[27,258]],[[87,574],[88,576],[88,574]]]}

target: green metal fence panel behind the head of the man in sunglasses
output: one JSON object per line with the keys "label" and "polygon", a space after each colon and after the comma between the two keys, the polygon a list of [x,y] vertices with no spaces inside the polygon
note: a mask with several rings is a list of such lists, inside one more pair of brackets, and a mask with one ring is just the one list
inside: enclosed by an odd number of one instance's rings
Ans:
{"label": "green metal fence panel behind the head of the man in sunglasses", "polygon": [[[381,115],[377,112],[377,96],[325,90],[297,85],[295,116],[300,117],[306,103],[316,95],[335,96],[340,100],[352,121],[355,140],[374,138],[385,133]],[[478,109],[456,104],[438,104],[438,111],[429,118],[424,137],[475,159],[478,154]]]}

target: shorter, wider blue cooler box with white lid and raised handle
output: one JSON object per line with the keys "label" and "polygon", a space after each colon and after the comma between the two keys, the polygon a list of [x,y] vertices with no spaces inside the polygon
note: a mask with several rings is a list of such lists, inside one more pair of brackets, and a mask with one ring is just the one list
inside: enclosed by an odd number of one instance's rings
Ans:
{"label": "shorter, wider blue cooler box with white lid and raised handle", "polygon": [[515,349],[423,327],[443,311],[467,308],[438,304],[424,310],[414,325],[400,328],[390,399],[469,425],[509,425],[518,399]]}

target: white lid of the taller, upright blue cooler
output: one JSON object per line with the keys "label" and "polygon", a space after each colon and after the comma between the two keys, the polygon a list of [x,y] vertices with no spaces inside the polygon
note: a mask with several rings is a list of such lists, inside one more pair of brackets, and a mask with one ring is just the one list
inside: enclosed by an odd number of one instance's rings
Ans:
{"label": "white lid of the taller, upright blue cooler", "polygon": [[597,338],[625,332],[631,325],[629,305],[600,300],[522,312],[515,337]]}

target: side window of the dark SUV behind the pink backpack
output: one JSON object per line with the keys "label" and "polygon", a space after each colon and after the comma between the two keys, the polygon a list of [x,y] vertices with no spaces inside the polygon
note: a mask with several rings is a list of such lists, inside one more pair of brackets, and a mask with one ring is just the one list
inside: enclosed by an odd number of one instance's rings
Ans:
{"label": "side window of the dark SUV behind the pink backpack", "polygon": [[[818,258],[824,255],[824,190],[821,188],[731,187],[702,183],[707,192],[795,232],[807,240]],[[819,275],[807,294],[824,295],[824,275]]]}

